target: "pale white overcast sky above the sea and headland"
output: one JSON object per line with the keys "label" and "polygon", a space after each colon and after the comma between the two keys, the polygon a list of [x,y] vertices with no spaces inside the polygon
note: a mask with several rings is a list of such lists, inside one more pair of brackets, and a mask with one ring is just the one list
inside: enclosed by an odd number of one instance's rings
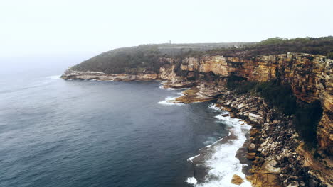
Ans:
{"label": "pale white overcast sky above the sea and headland", "polygon": [[0,57],[333,35],[332,0],[3,0]]}

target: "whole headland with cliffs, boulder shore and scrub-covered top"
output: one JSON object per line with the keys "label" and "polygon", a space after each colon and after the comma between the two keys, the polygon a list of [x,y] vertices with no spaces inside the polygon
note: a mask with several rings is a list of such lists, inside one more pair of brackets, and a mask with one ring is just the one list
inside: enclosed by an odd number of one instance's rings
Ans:
{"label": "whole headland with cliffs, boulder shore and scrub-covered top", "polygon": [[189,88],[176,102],[214,100],[253,125],[246,156],[253,186],[332,185],[332,36],[125,47],[70,67],[62,78]]}

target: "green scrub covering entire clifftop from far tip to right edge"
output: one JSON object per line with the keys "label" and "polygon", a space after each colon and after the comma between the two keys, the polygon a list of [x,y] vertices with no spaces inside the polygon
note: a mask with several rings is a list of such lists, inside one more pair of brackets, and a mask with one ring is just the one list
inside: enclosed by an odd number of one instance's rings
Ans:
{"label": "green scrub covering entire clifftop from far tip to right edge", "polygon": [[305,52],[327,55],[333,59],[333,36],[322,38],[269,38],[261,42],[153,44],[124,47],[103,52],[75,65],[77,71],[105,72],[110,74],[138,74],[159,72],[159,57],[172,57],[181,61],[185,57],[223,55],[251,58],[258,55],[275,55],[287,52]]}

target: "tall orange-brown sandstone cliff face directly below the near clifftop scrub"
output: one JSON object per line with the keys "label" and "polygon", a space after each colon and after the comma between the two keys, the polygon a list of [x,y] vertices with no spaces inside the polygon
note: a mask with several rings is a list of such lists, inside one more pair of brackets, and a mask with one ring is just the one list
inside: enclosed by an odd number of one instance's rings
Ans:
{"label": "tall orange-brown sandstone cliff face directly below the near clifftop scrub", "polygon": [[324,151],[333,153],[333,60],[304,53],[260,56],[250,60],[204,56],[184,59],[181,70],[213,73],[224,78],[235,75],[247,81],[280,79],[290,84],[301,101],[321,101],[324,111],[317,128],[318,142]]}

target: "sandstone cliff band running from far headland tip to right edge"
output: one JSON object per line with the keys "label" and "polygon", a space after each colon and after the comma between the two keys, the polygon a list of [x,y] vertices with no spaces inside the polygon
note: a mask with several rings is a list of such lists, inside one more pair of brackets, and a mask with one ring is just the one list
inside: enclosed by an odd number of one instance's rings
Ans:
{"label": "sandstone cliff band running from far headland tip to right edge", "polygon": [[[243,77],[247,81],[270,81],[280,79],[292,86],[292,91],[301,101],[322,103],[322,119],[317,127],[320,147],[333,153],[333,60],[323,55],[287,53],[242,59],[239,57],[203,56],[187,57],[184,60],[161,57],[163,64],[157,73],[105,74],[102,72],[75,72],[70,69],[63,79],[99,80],[168,80],[172,85],[201,85],[213,94],[226,84],[228,77]],[[179,74],[179,70],[182,72]],[[208,78],[207,78],[208,77]],[[206,89],[204,89],[206,90]],[[201,91],[201,97],[203,96]]]}

